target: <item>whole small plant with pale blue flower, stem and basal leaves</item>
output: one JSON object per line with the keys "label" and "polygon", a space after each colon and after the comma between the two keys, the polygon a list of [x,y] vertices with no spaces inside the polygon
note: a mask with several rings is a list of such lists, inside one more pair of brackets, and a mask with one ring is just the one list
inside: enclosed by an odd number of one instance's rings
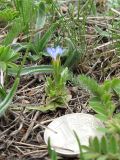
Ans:
{"label": "whole small plant with pale blue flower, stem and basal leaves", "polygon": [[[66,81],[68,79],[68,68],[62,68],[60,56],[63,53],[62,48],[47,48],[48,53],[52,57],[53,77],[47,78],[46,94],[47,103],[53,103],[53,109],[63,107],[69,100]],[[47,105],[48,105],[47,104]]]}

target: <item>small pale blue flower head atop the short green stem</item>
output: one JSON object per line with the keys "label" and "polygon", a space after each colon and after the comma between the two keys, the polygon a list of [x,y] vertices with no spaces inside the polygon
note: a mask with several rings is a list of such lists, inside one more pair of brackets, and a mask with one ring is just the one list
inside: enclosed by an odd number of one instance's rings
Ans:
{"label": "small pale blue flower head atop the short green stem", "polygon": [[56,48],[48,47],[47,52],[54,60],[56,60],[57,56],[62,55],[64,51],[60,46],[57,46]]}

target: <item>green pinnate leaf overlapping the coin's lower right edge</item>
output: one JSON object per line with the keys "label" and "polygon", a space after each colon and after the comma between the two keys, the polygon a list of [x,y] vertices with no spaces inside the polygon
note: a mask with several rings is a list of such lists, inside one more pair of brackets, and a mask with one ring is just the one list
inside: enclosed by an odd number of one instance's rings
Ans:
{"label": "green pinnate leaf overlapping the coin's lower right edge", "polygon": [[120,159],[120,141],[113,136],[90,138],[89,147],[83,146],[86,152],[83,153],[85,160],[119,160]]}

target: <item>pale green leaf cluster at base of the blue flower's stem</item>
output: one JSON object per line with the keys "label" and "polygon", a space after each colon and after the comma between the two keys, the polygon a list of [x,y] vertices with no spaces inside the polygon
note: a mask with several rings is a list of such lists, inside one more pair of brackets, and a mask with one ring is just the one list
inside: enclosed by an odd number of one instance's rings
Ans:
{"label": "pale green leaf cluster at base of the blue flower's stem", "polygon": [[49,101],[52,101],[59,104],[59,106],[63,106],[65,102],[68,101],[68,91],[65,86],[67,78],[68,68],[61,68],[61,71],[57,71],[57,73],[54,73],[53,69],[53,77],[49,77],[46,80],[46,95],[48,96],[48,103]]}

